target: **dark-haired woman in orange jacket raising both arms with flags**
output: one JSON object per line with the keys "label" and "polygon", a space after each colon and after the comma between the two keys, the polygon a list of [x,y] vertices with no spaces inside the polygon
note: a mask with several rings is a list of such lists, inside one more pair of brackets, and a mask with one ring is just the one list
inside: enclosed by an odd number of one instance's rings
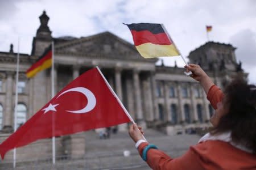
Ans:
{"label": "dark-haired woman in orange jacket raising both arms with flags", "polygon": [[143,141],[143,131],[131,125],[129,134],[139,154],[152,169],[256,169],[256,87],[242,78],[224,94],[199,65],[185,66],[199,81],[216,112],[213,129],[179,158],[173,159]]}

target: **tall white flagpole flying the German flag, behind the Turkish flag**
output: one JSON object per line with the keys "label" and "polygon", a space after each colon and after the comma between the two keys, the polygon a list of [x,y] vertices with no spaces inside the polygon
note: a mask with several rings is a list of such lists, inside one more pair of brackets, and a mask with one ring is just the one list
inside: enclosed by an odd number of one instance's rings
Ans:
{"label": "tall white flagpole flying the German flag, behind the Turkish flag", "polygon": [[[55,94],[55,86],[54,86],[54,42],[52,41],[52,98]],[[55,118],[52,114],[52,164],[55,164]]]}

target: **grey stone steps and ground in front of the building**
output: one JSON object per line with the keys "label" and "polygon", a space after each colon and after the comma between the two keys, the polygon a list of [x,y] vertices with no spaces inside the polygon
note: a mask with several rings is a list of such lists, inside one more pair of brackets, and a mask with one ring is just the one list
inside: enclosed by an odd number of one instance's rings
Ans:
{"label": "grey stone steps and ground in front of the building", "polygon": [[[127,132],[111,134],[109,139],[100,139],[94,131],[87,131],[84,135],[85,155],[80,158],[59,158],[55,166],[52,166],[51,159],[18,163],[15,169],[150,169],[138,155]],[[198,135],[167,136],[152,129],[147,129],[144,136],[173,158],[184,154],[200,138]],[[130,152],[130,156],[124,156],[124,151]],[[11,167],[12,164],[0,165],[0,169],[13,169]]]}

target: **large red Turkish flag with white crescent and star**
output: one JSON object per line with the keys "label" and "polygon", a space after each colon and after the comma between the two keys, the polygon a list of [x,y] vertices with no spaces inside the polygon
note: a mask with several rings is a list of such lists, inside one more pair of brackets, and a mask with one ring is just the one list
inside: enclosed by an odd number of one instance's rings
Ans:
{"label": "large red Turkish flag with white crescent and star", "polygon": [[0,145],[7,151],[38,139],[130,122],[114,92],[97,68],[69,83]]}

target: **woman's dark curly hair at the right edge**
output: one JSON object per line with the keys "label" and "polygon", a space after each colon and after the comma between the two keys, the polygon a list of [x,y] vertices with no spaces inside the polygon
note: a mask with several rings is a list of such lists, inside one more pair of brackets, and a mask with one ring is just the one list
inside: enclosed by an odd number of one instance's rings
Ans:
{"label": "woman's dark curly hair at the right edge", "polygon": [[232,141],[241,143],[256,154],[256,86],[247,84],[240,76],[224,91],[224,107],[228,113],[220,118],[212,134],[231,131]]}

